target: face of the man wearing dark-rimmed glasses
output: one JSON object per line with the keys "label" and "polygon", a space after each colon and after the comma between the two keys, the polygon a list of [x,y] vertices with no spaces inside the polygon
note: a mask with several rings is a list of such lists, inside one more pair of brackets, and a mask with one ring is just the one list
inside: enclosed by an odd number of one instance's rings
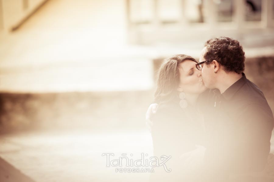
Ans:
{"label": "face of the man wearing dark-rimmed glasses", "polygon": [[[201,52],[199,63],[205,61],[204,55],[206,53],[206,47]],[[216,74],[214,73],[213,64],[202,64],[202,79],[207,88],[215,88]]]}

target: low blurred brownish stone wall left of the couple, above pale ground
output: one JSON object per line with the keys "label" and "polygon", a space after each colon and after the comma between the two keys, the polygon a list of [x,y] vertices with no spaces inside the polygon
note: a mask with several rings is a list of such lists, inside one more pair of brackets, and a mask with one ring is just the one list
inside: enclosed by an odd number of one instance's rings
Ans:
{"label": "low blurred brownish stone wall left of the couple, above pale ground", "polygon": [[0,94],[1,132],[140,129],[153,91]]}

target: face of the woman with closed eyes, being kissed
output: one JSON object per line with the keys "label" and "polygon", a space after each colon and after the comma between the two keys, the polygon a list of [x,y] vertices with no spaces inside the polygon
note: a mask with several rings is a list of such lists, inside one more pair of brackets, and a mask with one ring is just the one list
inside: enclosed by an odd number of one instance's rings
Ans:
{"label": "face of the woman with closed eyes, being kissed", "polygon": [[201,77],[201,70],[196,69],[197,63],[192,60],[184,60],[179,64],[180,83],[178,91],[186,94],[200,94],[206,90]]}

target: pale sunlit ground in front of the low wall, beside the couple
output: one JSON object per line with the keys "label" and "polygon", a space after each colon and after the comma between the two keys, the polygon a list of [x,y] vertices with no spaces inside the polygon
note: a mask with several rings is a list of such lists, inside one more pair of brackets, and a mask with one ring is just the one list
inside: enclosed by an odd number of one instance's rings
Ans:
{"label": "pale sunlit ground in front of the low wall, beside the couple", "polygon": [[[0,156],[37,182],[148,180],[149,173],[116,173],[115,167],[106,167],[102,153],[114,153],[116,159],[121,153],[132,153],[134,160],[141,159],[141,153],[152,156],[150,134],[42,132],[0,138]],[[3,175],[3,166],[0,169]]]}

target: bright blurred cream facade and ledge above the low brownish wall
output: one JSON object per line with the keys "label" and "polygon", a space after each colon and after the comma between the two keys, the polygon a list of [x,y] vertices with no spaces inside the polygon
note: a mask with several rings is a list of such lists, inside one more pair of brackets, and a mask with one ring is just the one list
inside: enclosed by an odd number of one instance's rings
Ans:
{"label": "bright blurred cream facade and ledge above the low brownish wall", "polygon": [[198,58],[218,36],[270,56],[273,12],[274,0],[1,0],[0,90],[149,89],[153,60]]}

